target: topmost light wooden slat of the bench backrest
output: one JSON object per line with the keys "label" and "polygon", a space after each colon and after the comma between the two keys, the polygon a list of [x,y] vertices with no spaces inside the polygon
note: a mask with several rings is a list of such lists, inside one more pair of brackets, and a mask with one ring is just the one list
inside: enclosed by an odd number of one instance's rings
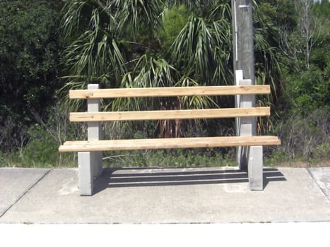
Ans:
{"label": "topmost light wooden slat of the bench backrest", "polygon": [[266,95],[269,85],[198,86],[173,88],[115,88],[99,90],[70,90],[70,99],[100,99],[118,97],[176,97],[204,95]]}

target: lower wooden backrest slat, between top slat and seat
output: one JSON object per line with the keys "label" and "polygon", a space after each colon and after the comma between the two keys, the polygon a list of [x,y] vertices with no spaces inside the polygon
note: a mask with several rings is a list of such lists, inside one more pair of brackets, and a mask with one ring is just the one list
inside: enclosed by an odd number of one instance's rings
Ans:
{"label": "lower wooden backrest slat, between top slat and seat", "polygon": [[131,121],[157,119],[217,119],[238,116],[269,116],[269,107],[191,109],[139,112],[71,112],[70,121]]}

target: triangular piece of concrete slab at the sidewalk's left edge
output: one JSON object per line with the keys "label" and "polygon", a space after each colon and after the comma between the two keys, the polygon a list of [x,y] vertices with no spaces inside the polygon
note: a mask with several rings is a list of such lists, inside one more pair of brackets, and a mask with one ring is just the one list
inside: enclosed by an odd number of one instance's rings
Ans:
{"label": "triangular piece of concrete slab at the sidewalk's left edge", "polygon": [[0,168],[0,217],[49,169]]}

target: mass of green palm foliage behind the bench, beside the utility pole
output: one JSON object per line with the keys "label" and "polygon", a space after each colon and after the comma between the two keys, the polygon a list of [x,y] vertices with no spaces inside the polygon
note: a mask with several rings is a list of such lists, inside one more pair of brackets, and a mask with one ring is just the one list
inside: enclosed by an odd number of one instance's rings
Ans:
{"label": "mass of green palm foliage behind the bench, beside the utility pole", "polygon": [[[65,90],[86,88],[91,82],[106,88],[232,85],[230,1],[65,0],[64,12],[61,30],[72,40],[63,58]],[[258,35],[264,38],[262,29]],[[271,54],[266,40],[257,44]],[[113,100],[107,107],[184,109],[224,103],[182,97]],[[179,121],[158,126],[163,126],[158,128],[161,135],[181,135],[166,131],[177,130]]]}

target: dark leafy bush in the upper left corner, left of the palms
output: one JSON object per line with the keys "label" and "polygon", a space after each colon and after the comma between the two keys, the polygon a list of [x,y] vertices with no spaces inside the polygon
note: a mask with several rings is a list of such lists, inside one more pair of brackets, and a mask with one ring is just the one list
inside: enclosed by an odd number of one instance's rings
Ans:
{"label": "dark leafy bush in the upper left corner, left of the palms", "polygon": [[20,148],[21,128],[33,123],[33,112],[45,114],[59,88],[55,6],[61,1],[0,1],[0,131],[11,136],[1,139],[2,152]]}

